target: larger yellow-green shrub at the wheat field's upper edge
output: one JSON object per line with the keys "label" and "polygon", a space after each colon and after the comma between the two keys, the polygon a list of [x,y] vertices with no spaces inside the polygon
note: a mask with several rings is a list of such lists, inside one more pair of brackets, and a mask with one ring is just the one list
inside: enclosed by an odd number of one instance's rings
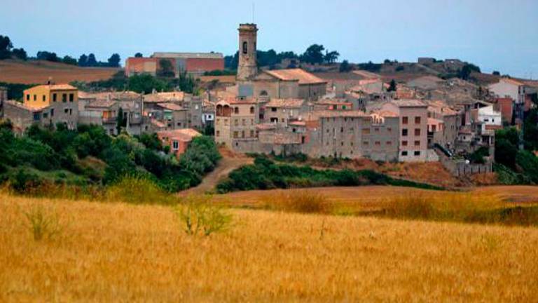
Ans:
{"label": "larger yellow-green shrub at the wheat field's upper edge", "polygon": [[188,196],[174,208],[186,234],[209,236],[230,229],[232,215],[211,203],[211,196]]}

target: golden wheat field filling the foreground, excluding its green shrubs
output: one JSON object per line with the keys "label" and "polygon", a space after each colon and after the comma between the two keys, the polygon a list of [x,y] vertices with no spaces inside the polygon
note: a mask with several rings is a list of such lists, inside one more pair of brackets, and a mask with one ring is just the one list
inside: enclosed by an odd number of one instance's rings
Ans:
{"label": "golden wheat field filling the foreground, excluding its green shrubs", "polygon": [[[60,216],[34,241],[25,213]],[[172,208],[0,196],[0,302],[535,302],[538,229],[228,210],[188,236]]]}

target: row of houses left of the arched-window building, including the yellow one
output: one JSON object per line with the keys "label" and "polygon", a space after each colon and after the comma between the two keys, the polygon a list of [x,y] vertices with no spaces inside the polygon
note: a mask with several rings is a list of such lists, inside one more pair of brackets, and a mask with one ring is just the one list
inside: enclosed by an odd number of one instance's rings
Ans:
{"label": "row of houses left of the arched-window building, including the yellow one", "polygon": [[[50,128],[62,123],[68,129],[92,124],[109,135],[118,135],[120,129],[130,135],[157,133],[176,154],[184,152],[186,142],[200,135],[195,129],[212,123],[214,115],[212,107],[202,106],[201,97],[183,92],[85,93],[67,84],[47,84],[25,90],[23,101],[18,102],[4,101],[4,91],[0,91],[0,114],[12,122],[15,133],[22,134],[34,124]],[[204,113],[204,108],[209,112]]]}

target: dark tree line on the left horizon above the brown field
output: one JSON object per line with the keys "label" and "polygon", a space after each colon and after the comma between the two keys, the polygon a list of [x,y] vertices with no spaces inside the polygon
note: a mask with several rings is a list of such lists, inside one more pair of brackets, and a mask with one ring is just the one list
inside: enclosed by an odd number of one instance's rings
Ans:
{"label": "dark tree line on the left horizon above the brown field", "polygon": [[0,35],[0,60],[19,59],[19,60],[46,60],[50,62],[62,62],[68,65],[78,65],[81,67],[120,67],[120,55],[113,53],[106,62],[99,62],[93,53],[81,55],[78,60],[69,55],[64,57],[58,56],[48,50],[40,50],[35,57],[29,57],[24,48],[13,48],[13,42],[8,36]]}

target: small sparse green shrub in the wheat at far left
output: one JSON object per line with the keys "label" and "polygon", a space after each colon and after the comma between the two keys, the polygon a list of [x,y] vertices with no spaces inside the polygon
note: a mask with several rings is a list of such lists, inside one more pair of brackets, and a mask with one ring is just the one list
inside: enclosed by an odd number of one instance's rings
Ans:
{"label": "small sparse green shrub in the wheat at far left", "polygon": [[62,232],[58,215],[52,210],[46,210],[43,206],[37,205],[32,206],[24,214],[28,221],[27,227],[35,241],[41,241],[43,238],[52,239]]}

